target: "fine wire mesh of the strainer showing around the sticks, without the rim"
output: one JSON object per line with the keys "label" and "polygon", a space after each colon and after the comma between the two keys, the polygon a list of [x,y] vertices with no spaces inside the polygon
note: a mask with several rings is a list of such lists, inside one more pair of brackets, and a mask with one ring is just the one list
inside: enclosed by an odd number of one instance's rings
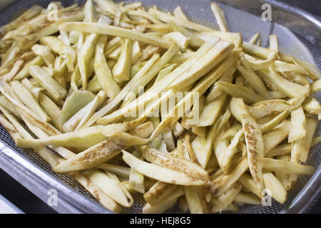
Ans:
{"label": "fine wire mesh of the strainer showing around the sticks, without the rim", "polygon": [[[125,3],[131,3],[133,1],[125,1]],[[198,24],[203,24],[211,28],[218,28],[215,24],[215,18],[210,9],[209,0],[166,0],[166,1],[155,1],[155,0],[146,0],[143,1],[144,6],[158,6],[159,9],[163,11],[173,11],[176,6],[181,6],[183,11],[187,14],[190,20],[195,21]],[[0,24],[6,24],[11,19],[14,19],[16,16],[19,16],[24,9],[28,9],[34,4],[39,4],[41,6],[48,6],[50,3],[49,0],[20,0],[16,1],[14,4],[11,4],[0,14]],[[63,1],[64,6],[68,6],[74,3],[82,4],[83,1]],[[263,21],[260,17],[253,14],[249,14],[245,11],[240,11],[234,9],[230,6],[225,6],[219,4],[223,11],[225,12],[226,19],[228,21],[228,26],[230,31],[242,33],[243,40],[248,41],[255,33],[260,32],[262,36],[262,46],[268,46],[268,36],[271,33],[275,33],[279,37],[280,51],[282,53],[291,54],[297,58],[301,58],[304,61],[315,64],[319,70],[321,70],[321,58],[320,58],[320,49],[317,46],[307,41],[302,36],[299,36],[288,28],[275,24],[272,21]],[[317,95],[317,99],[320,100],[320,94]],[[320,124],[317,125],[315,131],[315,136],[320,135]],[[0,125],[0,140],[6,142],[12,149],[19,152],[21,155],[24,155],[26,159],[33,161],[36,165],[39,165],[41,169],[46,170],[49,175],[54,175],[61,182],[70,187],[73,187],[74,190],[91,197],[91,194],[83,189],[78,183],[73,180],[68,175],[57,175],[55,174],[49,165],[46,164],[41,158],[39,158],[32,150],[21,150],[17,148],[14,144],[14,141],[11,139],[11,136],[4,130]],[[310,151],[309,157],[306,164],[312,165],[317,168],[320,164],[321,154],[320,154],[321,145],[316,145]],[[277,213],[282,209],[287,207],[292,199],[302,190],[302,187],[305,186],[307,181],[310,179],[310,176],[300,176],[295,183],[295,186],[288,192],[287,202],[285,204],[279,204],[275,201],[272,201],[272,206],[263,207],[263,206],[253,206],[253,205],[244,205],[240,207],[240,213]],[[36,192],[35,192],[36,193]],[[143,197],[137,195],[135,197],[136,203],[133,207],[128,209],[123,209],[124,213],[141,213],[141,209],[145,201]],[[180,210],[177,207],[170,209],[168,212],[177,213]]]}

